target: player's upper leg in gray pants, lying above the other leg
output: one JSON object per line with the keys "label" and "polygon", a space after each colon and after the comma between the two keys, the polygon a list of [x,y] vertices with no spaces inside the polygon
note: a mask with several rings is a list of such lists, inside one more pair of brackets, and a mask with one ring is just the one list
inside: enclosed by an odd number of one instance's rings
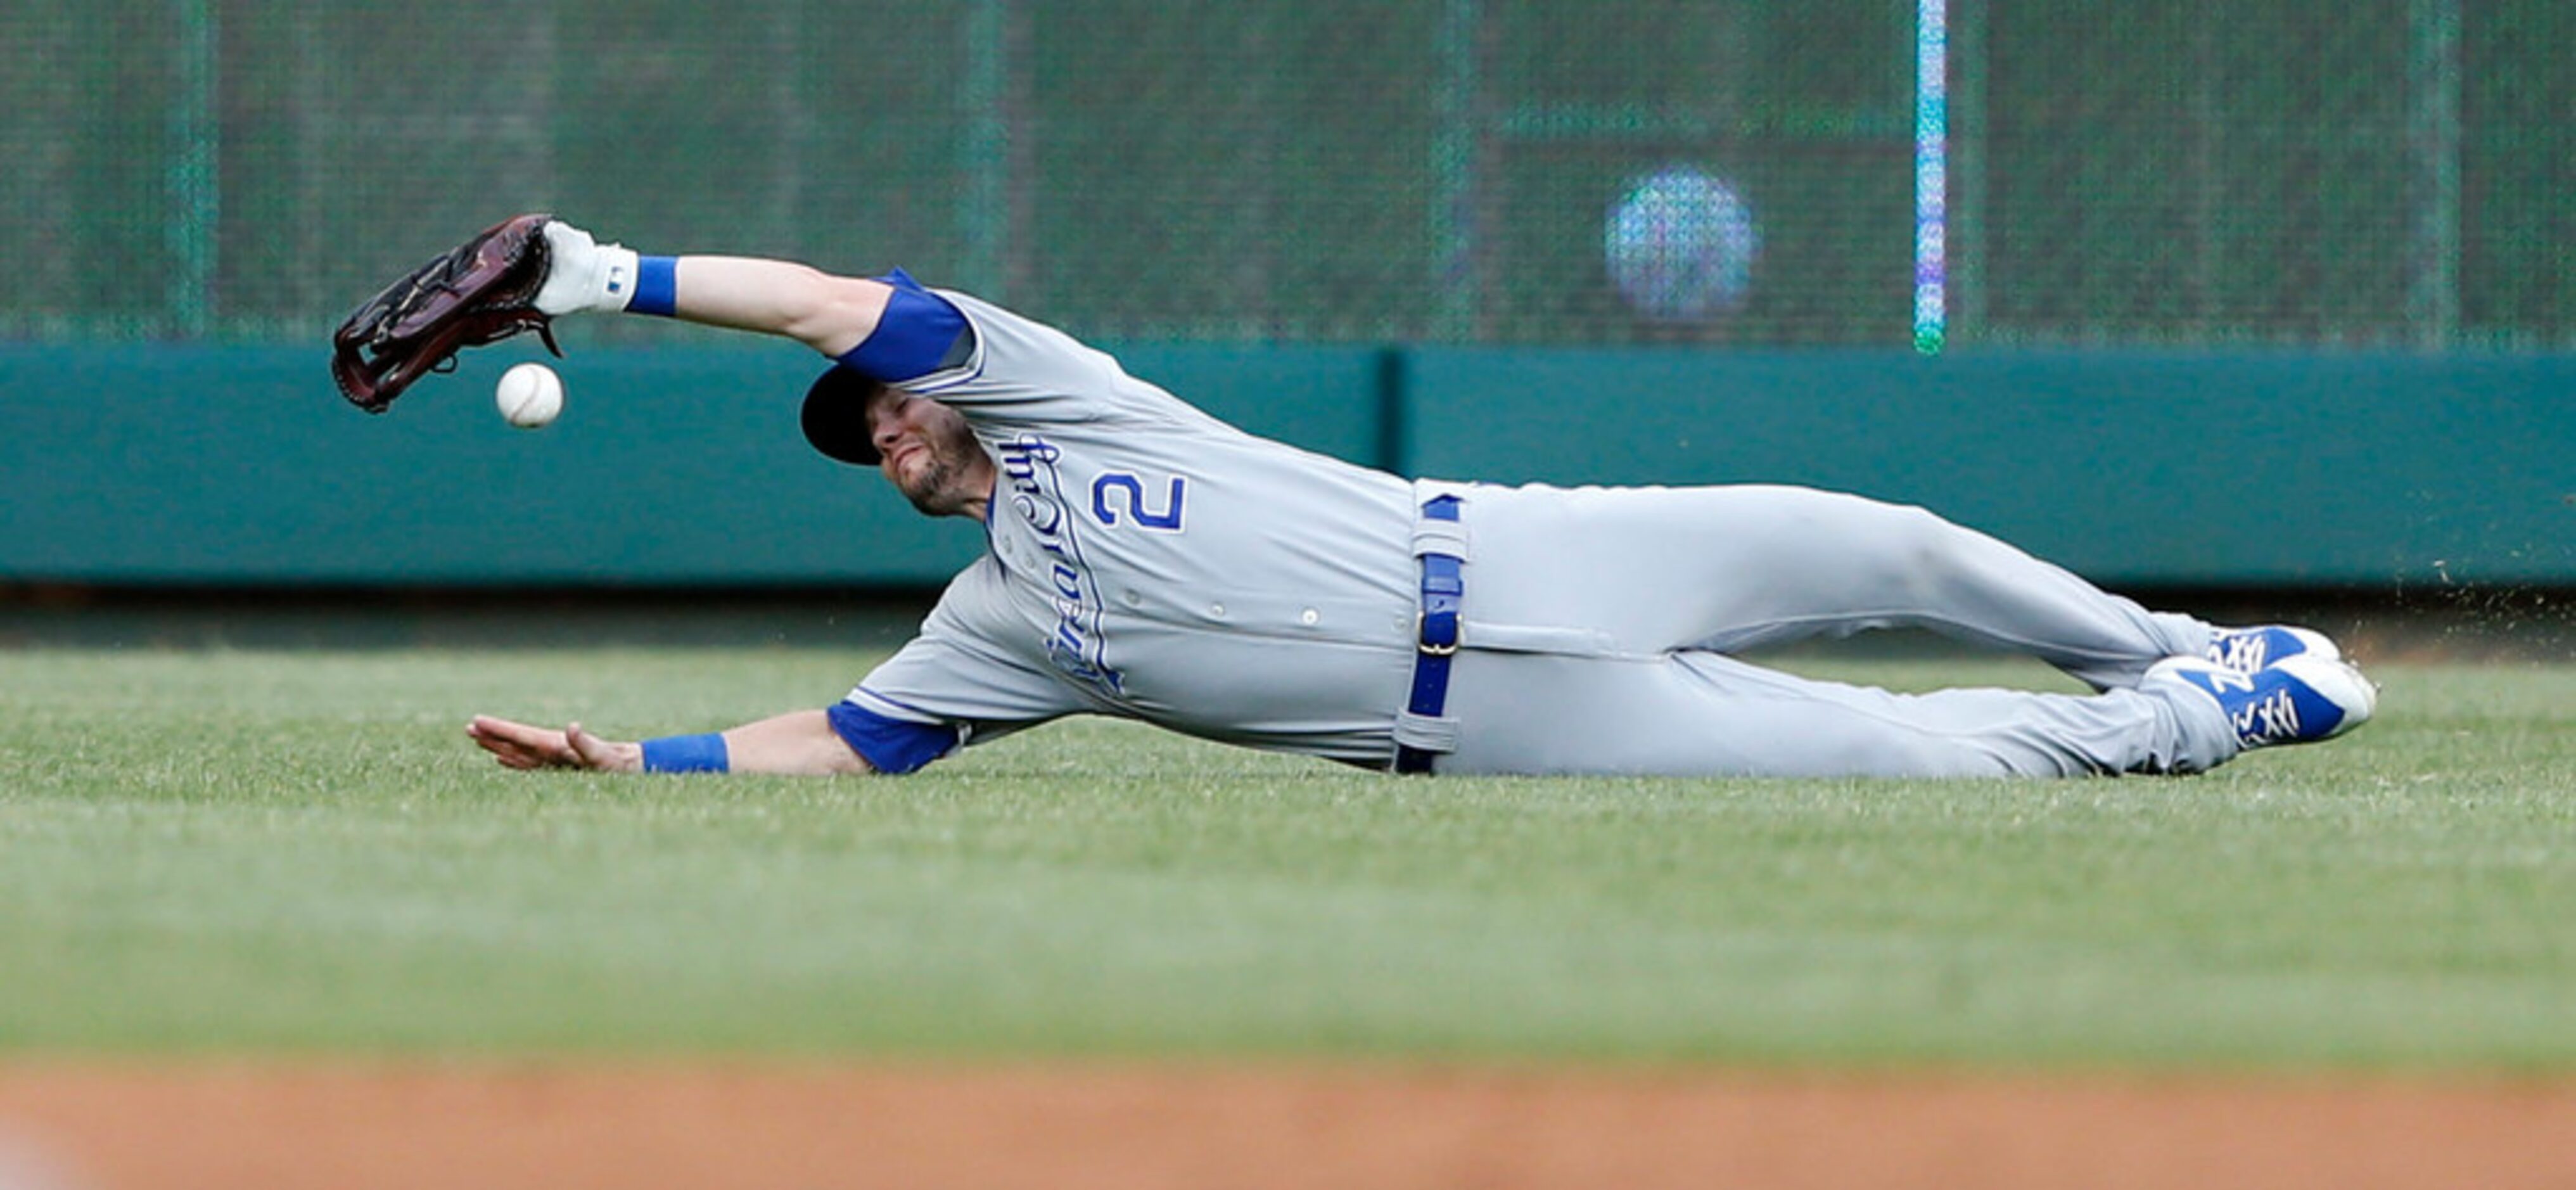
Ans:
{"label": "player's upper leg in gray pants, lying above the other leg", "polygon": [[1471,618],[1736,652],[1917,626],[2128,688],[2213,628],[1932,513],[1806,487],[1510,489],[1468,505]]}

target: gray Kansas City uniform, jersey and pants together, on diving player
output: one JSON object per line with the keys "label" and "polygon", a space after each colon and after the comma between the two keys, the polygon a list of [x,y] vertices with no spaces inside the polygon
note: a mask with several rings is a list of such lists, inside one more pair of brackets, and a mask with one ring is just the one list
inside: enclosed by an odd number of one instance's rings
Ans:
{"label": "gray Kansas City uniform, jersey and pants together, on diving player", "polygon": [[[2136,688],[2210,626],[1929,513],[1795,487],[1406,482],[935,299],[963,314],[963,363],[878,379],[963,412],[999,482],[987,554],[832,711],[878,770],[1084,711],[1368,768],[1401,721],[1443,773],[2074,775],[2236,752],[2215,706]],[[1443,495],[1455,520],[1427,520]],[[1406,713],[1417,551],[1463,559],[1440,716]],[[1870,626],[2027,652],[2107,693],[1896,695],[1726,654]]]}

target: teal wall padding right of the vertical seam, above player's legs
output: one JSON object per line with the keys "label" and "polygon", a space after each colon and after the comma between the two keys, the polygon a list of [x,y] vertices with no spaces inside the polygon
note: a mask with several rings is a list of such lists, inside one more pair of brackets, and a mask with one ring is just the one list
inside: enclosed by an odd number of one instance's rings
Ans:
{"label": "teal wall padding right of the vertical seam, above player's legs", "polygon": [[1832,487],[2105,582],[2576,582],[2576,355],[1425,350],[1409,371],[1427,474]]}

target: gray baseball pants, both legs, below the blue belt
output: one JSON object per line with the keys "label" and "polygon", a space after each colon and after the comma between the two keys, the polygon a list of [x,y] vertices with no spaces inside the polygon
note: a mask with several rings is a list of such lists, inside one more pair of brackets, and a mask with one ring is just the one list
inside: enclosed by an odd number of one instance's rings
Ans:
{"label": "gray baseball pants, both legs, below the blue belt", "polygon": [[[2087,775],[2236,755],[2215,701],[2138,688],[2213,628],[1919,507],[1803,487],[1455,487],[1466,628],[1443,773]],[[1917,626],[2102,693],[1901,695],[1739,649]]]}

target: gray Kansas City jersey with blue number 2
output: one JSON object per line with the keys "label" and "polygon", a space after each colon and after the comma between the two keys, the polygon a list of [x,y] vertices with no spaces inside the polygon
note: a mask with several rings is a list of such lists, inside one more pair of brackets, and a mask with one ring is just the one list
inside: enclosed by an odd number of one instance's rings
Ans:
{"label": "gray Kansas City jersey with blue number 2", "polygon": [[999,482],[987,554],[850,701],[969,739],[1097,711],[1386,762],[1412,665],[1412,484],[1247,435],[966,294],[966,415]]}

